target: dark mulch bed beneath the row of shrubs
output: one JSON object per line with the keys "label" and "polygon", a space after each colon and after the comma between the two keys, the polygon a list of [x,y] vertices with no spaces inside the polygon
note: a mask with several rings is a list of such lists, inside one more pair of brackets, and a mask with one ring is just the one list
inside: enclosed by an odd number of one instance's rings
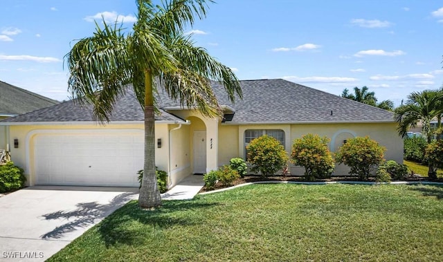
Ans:
{"label": "dark mulch bed beneath the row of shrubs", "polygon": [[[221,183],[217,183],[213,189],[207,189],[206,187],[203,187],[199,191],[199,193],[213,191],[213,190],[217,190],[217,189],[223,189],[226,187],[233,187],[235,185],[240,185],[240,184],[244,184],[244,183],[263,182],[263,181],[332,182],[332,181],[361,181],[361,180],[359,180],[358,178],[351,177],[351,176],[333,176],[332,178],[327,178],[327,179],[318,179],[315,181],[307,181],[302,176],[269,176],[269,177],[263,178],[262,176],[258,176],[258,175],[248,175],[248,176],[244,176],[244,178],[238,178],[233,183],[231,183],[231,185],[222,185]],[[374,181],[375,181],[374,178],[369,179],[369,182],[374,182]],[[413,176],[408,176],[408,177],[404,178],[402,181],[443,182],[443,178],[437,178],[437,180],[429,180],[427,177],[413,175]]]}

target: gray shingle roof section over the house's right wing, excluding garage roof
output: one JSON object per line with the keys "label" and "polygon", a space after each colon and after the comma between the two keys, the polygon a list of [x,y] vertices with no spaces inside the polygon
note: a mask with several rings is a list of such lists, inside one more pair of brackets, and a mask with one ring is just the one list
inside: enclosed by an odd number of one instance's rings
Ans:
{"label": "gray shingle roof section over the house's right wing, excluding garage roof", "polygon": [[[213,84],[220,104],[235,109],[231,123],[394,122],[390,111],[284,79],[244,80],[240,84],[243,100],[235,100],[235,104],[229,102],[221,84]],[[162,99],[165,107],[177,106],[164,94]]]}

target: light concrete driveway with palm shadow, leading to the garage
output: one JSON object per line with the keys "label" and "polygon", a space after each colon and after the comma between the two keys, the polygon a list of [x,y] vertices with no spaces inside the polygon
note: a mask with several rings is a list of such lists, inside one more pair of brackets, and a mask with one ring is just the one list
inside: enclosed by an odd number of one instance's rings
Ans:
{"label": "light concrete driveway with palm shadow, leading to the garage", "polygon": [[45,261],[138,197],[134,187],[35,186],[0,197],[0,261]]}

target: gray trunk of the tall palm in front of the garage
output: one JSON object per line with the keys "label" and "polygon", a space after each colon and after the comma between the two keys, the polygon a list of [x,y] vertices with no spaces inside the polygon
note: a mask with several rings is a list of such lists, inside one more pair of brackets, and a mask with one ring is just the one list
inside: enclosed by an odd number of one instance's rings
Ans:
{"label": "gray trunk of the tall palm in front of the garage", "polygon": [[138,205],[142,208],[158,207],[161,196],[155,174],[155,124],[152,74],[145,72],[145,165]]}

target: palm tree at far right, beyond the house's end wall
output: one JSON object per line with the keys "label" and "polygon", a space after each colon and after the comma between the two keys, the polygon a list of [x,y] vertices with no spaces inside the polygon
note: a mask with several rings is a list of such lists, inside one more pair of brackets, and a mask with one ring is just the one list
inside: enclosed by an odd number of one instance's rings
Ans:
{"label": "palm tree at far right, beyond the house's end wall", "polygon": [[[440,118],[442,108],[443,92],[438,90],[424,90],[413,92],[408,95],[405,105],[395,109],[395,120],[398,123],[397,130],[402,137],[406,137],[409,127],[416,127],[419,120],[422,121],[423,133],[428,143],[433,137],[431,120]],[[428,163],[429,178],[436,178],[437,173],[431,162]]]}

